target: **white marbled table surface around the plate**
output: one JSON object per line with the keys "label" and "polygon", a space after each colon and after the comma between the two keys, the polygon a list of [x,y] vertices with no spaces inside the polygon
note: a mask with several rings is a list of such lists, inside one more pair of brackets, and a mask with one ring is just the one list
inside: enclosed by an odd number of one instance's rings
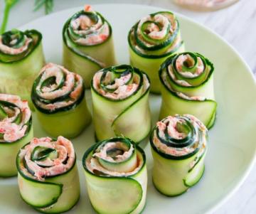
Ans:
{"label": "white marbled table surface around the plate", "polygon": [[[129,3],[159,6],[166,10],[176,11],[193,20],[203,23],[223,36],[242,55],[256,76],[256,1],[240,0],[237,4],[214,12],[195,12],[182,9],[171,0],[54,0],[55,11],[69,9],[83,4]],[[33,0],[20,0],[11,10],[8,29],[21,26],[28,21],[44,16],[44,10],[33,12]],[[3,14],[4,0],[0,0],[0,15]],[[0,17],[0,22],[2,17]],[[225,56],[224,56],[225,57]],[[255,142],[256,143],[256,142]],[[159,210],[159,214],[161,210]],[[239,190],[223,205],[215,210],[224,213],[256,213],[256,166]]]}

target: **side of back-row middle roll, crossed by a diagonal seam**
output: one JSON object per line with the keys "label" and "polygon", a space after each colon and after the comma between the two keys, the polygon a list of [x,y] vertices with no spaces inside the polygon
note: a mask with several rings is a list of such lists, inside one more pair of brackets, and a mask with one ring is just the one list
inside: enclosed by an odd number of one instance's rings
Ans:
{"label": "side of back-row middle roll, crossed by a diagonal seam", "polygon": [[[105,67],[116,64],[112,36],[105,43],[97,46],[85,46],[80,51],[104,63]],[[82,79],[85,81],[85,88],[90,88],[90,81],[93,75],[102,68],[97,63],[75,53],[65,42],[63,42],[63,65],[68,70],[82,76]]]}

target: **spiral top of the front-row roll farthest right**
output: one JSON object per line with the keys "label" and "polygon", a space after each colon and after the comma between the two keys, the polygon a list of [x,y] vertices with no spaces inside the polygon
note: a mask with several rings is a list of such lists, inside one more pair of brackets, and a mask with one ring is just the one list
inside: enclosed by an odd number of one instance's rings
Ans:
{"label": "spiral top of the front-row roll farthest right", "polygon": [[151,146],[172,159],[183,159],[206,151],[207,128],[191,114],[166,117],[157,122],[151,136]]}

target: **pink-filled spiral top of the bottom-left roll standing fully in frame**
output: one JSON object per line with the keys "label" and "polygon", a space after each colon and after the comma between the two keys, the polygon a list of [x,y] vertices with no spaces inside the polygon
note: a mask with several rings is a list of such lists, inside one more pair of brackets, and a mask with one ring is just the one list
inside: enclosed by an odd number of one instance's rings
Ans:
{"label": "pink-filled spiral top of the bottom-left roll standing fully in frame", "polygon": [[18,156],[22,173],[38,181],[65,173],[75,164],[73,144],[61,136],[56,141],[50,137],[33,138]]}

